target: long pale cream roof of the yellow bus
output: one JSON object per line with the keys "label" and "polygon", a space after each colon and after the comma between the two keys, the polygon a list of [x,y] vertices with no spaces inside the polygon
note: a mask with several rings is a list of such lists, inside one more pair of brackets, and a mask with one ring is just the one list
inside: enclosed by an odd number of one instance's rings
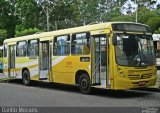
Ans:
{"label": "long pale cream roof of the yellow bus", "polygon": [[53,37],[53,36],[57,36],[57,35],[71,34],[71,33],[76,33],[76,32],[80,33],[80,32],[100,30],[100,29],[105,29],[105,28],[109,27],[111,24],[114,24],[114,23],[132,23],[132,24],[144,25],[144,24],[134,23],[134,22],[98,23],[98,24],[93,24],[93,25],[85,25],[85,26],[80,26],[80,27],[61,29],[61,30],[57,30],[57,31],[42,32],[42,33],[39,33],[39,34],[32,34],[32,35],[26,35],[26,36],[21,36],[21,37],[10,38],[10,39],[4,40],[4,43],[17,42],[17,41],[22,41],[22,40],[30,40],[30,39],[37,39],[37,38]]}

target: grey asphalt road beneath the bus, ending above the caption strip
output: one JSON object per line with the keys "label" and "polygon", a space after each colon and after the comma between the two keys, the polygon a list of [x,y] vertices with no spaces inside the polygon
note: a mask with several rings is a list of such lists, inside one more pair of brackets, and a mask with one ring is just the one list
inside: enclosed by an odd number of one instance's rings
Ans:
{"label": "grey asphalt road beneath the bus, ending above the caption strip", "polygon": [[160,107],[160,90],[94,89],[91,95],[84,95],[76,86],[34,82],[28,87],[14,80],[11,83],[0,83],[0,106]]}

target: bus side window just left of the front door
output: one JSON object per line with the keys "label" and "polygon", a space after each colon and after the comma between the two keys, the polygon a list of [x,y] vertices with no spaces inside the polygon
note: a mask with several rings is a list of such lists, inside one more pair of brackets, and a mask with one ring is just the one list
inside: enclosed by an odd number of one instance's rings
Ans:
{"label": "bus side window just left of the front door", "polygon": [[72,54],[90,53],[90,33],[80,33],[72,35]]}

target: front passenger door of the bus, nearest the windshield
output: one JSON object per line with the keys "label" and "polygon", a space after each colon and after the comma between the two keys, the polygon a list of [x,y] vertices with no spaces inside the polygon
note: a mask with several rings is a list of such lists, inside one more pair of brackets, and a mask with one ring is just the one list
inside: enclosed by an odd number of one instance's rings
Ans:
{"label": "front passenger door of the bus, nearest the windshield", "polygon": [[109,44],[106,35],[95,35],[92,38],[92,84],[108,87],[109,76]]}

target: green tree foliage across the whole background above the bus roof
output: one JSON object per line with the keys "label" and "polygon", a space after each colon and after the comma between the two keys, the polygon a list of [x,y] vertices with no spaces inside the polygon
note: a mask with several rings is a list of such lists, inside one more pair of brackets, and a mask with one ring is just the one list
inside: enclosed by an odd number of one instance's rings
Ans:
{"label": "green tree foliage across the whole background above the bus roof", "polygon": [[[135,13],[121,15],[120,7],[124,2],[126,0],[0,0],[0,29],[6,30],[4,38],[46,31],[47,9],[50,30],[92,22],[135,22]],[[144,2],[149,2],[148,8]],[[152,0],[137,0],[137,3],[138,22],[148,24],[153,32],[159,32],[160,8],[150,10],[155,4]]]}

